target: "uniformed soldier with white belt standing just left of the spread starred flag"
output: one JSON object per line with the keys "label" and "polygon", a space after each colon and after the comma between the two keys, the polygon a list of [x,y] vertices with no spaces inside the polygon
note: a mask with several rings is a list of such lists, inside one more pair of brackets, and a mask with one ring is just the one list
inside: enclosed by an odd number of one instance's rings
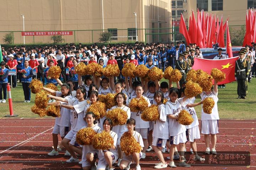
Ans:
{"label": "uniformed soldier with white belt standing just left of the spread starred flag", "polygon": [[182,53],[179,54],[178,60],[175,63],[175,68],[180,70],[182,74],[182,78],[180,80],[180,87],[186,81],[187,73],[188,73],[188,64],[183,60],[184,55]]}

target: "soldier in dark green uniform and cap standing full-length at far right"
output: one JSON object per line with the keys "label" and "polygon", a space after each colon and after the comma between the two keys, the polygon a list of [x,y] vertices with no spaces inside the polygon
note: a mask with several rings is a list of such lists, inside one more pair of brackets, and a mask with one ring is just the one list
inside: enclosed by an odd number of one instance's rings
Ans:
{"label": "soldier in dark green uniform and cap standing full-length at far right", "polygon": [[246,81],[249,77],[249,64],[245,60],[245,52],[239,51],[239,59],[235,65],[235,80],[238,82],[238,98],[245,99],[246,97]]}

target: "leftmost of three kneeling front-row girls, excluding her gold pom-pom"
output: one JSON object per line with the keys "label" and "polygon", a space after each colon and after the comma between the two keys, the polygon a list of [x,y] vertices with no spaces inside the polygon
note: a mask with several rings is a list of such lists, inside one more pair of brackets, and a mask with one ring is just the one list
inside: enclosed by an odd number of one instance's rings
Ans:
{"label": "leftmost of three kneeling front-row girls, excluding her gold pom-pom", "polygon": [[[96,133],[100,133],[101,129],[95,125],[95,114],[93,112],[85,113],[85,120],[87,125],[83,128],[92,128]],[[82,146],[82,169],[90,170],[95,169],[95,160],[98,158],[98,149],[94,149],[92,145],[83,145]]]}

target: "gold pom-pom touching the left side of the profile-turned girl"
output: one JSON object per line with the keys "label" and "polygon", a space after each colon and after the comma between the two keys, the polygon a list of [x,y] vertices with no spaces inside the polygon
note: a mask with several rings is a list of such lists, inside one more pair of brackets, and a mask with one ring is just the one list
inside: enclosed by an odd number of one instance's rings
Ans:
{"label": "gold pom-pom touching the left side of the profile-turned girl", "polygon": [[155,121],[159,119],[158,106],[152,104],[147,107],[141,114],[141,118],[144,121]]}

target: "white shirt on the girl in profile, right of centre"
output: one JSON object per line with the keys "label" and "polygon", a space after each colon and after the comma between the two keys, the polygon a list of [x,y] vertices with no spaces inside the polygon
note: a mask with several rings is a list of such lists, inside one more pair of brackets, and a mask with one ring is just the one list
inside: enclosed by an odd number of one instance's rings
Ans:
{"label": "white shirt on the girl in profile, right of centre", "polygon": [[154,123],[153,137],[169,139],[168,121],[165,113],[165,104],[158,106],[159,119]]}

